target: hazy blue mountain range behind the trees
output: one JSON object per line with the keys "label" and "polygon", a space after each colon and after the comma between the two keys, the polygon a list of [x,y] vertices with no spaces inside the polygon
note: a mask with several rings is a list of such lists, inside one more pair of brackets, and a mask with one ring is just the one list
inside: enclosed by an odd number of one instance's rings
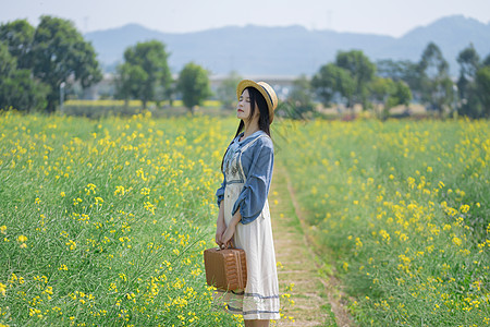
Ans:
{"label": "hazy blue mountain range behind the trees", "polygon": [[243,75],[314,74],[334,60],[339,50],[363,50],[372,61],[379,59],[418,61],[428,43],[436,43],[456,75],[457,53],[470,43],[480,57],[490,53],[490,24],[462,15],[440,19],[406,35],[391,36],[308,31],[301,26],[222,27],[196,33],[161,33],[137,24],[85,35],[98,53],[102,66],[111,71],[122,61],[126,47],[158,39],[166,44],[173,73],[194,61],[212,74],[235,70]]}

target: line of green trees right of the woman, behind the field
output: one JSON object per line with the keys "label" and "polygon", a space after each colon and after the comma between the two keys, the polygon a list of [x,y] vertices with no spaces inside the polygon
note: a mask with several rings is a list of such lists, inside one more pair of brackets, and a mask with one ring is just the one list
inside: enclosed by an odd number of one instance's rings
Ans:
{"label": "line of green trees right of the woman, behind the field", "polygon": [[452,81],[449,63],[434,44],[427,45],[418,62],[379,60],[373,63],[363,51],[339,51],[334,62],[322,65],[310,78],[294,82],[289,96],[297,116],[314,108],[343,104],[347,109],[360,105],[383,107],[382,116],[395,106],[415,99],[439,114],[490,117],[490,55],[480,60],[473,45],[457,57],[460,76]]}

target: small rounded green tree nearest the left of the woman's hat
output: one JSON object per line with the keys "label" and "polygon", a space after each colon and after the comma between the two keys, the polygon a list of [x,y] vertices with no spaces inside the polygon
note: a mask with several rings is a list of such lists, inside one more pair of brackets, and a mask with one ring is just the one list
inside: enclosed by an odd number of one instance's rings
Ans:
{"label": "small rounded green tree nearest the left of the woman's hat", "polygon": [[187,63],[179,75],[177,89],[184,106],[194,113],[195,107],[211,96],[208,71],[194,62]]}

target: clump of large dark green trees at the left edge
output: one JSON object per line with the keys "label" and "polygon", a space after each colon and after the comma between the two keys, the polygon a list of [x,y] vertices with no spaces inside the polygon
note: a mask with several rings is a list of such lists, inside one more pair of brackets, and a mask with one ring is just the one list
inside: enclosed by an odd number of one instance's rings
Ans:
{"label": "clump of large dark green trees at the left edge", "polygon": [[93,46],[65,20],[41,16],[0,25],[0,108],[54,111],[69,77],[88,87],[102,78]]}

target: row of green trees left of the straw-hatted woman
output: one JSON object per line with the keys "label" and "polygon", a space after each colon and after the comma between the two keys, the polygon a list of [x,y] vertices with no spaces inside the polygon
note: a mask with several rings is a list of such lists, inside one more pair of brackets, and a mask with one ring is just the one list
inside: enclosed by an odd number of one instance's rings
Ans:
{"label": "row of green trees left of the straw-hatted woman", "polygon": [[[180,93],[193,110],[211,96],[208,72],[189,62],[172,81],[169,53],[157,40],[124,51],[115,97],[159,105]],[[102,80],[94,47],[68,20],[45,15],[37,27],[26,20],[0,25],[0,109],[53,112],[70,87],[87,88]]]}

